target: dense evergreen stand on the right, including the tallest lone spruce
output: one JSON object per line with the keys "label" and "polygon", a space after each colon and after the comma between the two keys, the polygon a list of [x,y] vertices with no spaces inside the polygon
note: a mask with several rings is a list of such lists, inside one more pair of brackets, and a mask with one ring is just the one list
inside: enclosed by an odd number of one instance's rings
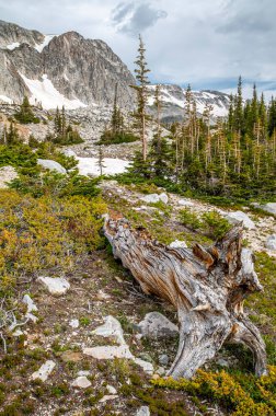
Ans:
{"label": "dense evergreen stand on the right, including the tallest lone spruce", "polygon": [[[269,197],[276,188],[276,100],[267,105],[264,95],[245,101],[242,80],[235,95],[230,96],[226,118],[216,119],[211,105],[198,115],[191,86],[185,91],[184,119],[170,126],[169,137],[162,136],[160,90],[156,89],[156,118],[146,113],[148,78],[145,46],[139,46],[137,73],[137,111],[135,122],[140,131],[142,149],[133,161],[129,175],[136,181],[192,190],[204,195],[242,198]],[[154,128],[147,149],[146,125]]]}

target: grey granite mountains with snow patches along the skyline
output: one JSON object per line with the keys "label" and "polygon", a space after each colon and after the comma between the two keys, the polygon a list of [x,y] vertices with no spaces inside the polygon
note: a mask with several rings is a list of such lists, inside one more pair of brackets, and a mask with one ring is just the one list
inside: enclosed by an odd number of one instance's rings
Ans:
{"label": "grey granite mountains with snow patches along the skyline", "polygon": [[[103,41],[85,39],[77,32],[44,35],[0,21],[0,102],[31,103],[44,108],[65,105],[67,109],[108,105],[118,85],[118,104],[131,108],[135,79],[126,65]],[[153,114],[154,85],[149,86],[149,111]],[[214,117],[226,116],[229,95],[194,91],[198,114],[205,105]],[[184,89],[164,84],[161,89],[162,120],[183,118]]]}

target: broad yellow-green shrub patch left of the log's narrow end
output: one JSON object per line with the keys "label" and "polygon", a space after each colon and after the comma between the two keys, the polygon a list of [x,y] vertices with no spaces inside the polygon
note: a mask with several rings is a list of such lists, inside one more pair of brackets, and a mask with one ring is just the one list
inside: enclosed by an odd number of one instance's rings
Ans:
{"label": "broad yellow-green shrub patch left of the log's narrow end", "polygon": [[72,270],[82,255],[103,243],[99,231],[105,205],[83,196],[33,198],[0,192],[1,293],[19,277]]}

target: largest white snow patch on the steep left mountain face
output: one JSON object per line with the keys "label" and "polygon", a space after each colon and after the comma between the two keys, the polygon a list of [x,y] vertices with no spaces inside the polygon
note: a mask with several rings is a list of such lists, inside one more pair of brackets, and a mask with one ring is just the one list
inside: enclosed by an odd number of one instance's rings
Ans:
{"label": "largest white snow patch on the steep left mountain face", "polygon": [[53,82],[45,73],[39,80],[30,80],[23,73],[20,73],[21,78],[25,82],[26,86],[32,93],[30,99],[31,104],[41,103],[43,108],[50,109],[65,106],[66,109],[74,109],[80,107],[87,107],[80,100],[69,100],[54,86]]}

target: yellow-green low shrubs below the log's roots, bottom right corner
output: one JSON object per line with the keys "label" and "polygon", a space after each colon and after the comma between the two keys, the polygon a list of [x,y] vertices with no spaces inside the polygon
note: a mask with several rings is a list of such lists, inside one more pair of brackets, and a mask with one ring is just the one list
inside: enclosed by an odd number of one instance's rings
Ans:
{"label": "yellow-green low shrubs below the log's roots, bottom right corner", "polygon": [[231,375],[226,371],[198,370],[193,380],[172,378],[151,381],[154,386],[183,390],[195,396],[204,396],[220,404],[234,416],[273,416],[276,412],[276,367],[269,374]]}

